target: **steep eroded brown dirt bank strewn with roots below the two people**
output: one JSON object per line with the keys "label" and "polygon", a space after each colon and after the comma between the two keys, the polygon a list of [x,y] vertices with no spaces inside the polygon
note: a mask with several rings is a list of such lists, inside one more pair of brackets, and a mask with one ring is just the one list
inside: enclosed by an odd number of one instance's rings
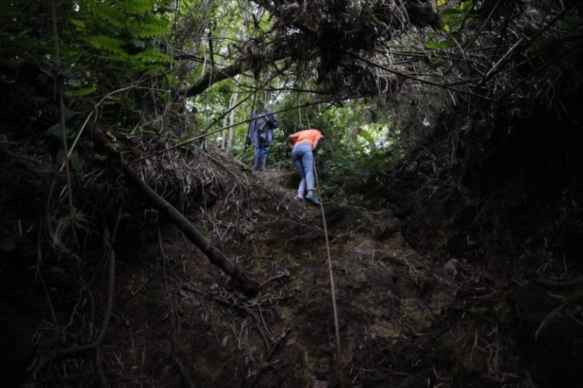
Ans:
{"label": "steep eroded brown dirt bank strewn with roots below the two people", "polygon": [[[9,318],[3,325],[13,339],[6,343],[8,365],[27,368],[20,382],[340,386],[319,208],[293,200],[293,189],[283,188],[288,172],[252,174],[216,155],[207,159],[220,162],[223,175],[241,186],[180,196],[173,190],[180,187],[179,171],[157,189],[174,195],[169,200],[213,236],[213,244],[254,273],[262,283],[259,296],[243,297],[173,225],[152,211],[139,218],[131,207],[139,204],[127,204],[115,243],[115,304],[99,359],[92,352],[55,353],[88,343],[99,330],[94,322],[106,309],[107,287],[97,250],[80,279],[101,284],[101,293],[72,293],[62,285],[78,284],[73,273],[51,264],[47,293],[64,328],[51,324],[38,282],[23,277],[37,286],[13,287],[10,295],[22,303],[2,306]],[[251,181],[247,195],[243,188]],[[438,247],[420,254],[396,208],[325,204],[349,386],[577,386],[580,283],[524,271],[516,277],[504,262],[471,261]],[[21,240],[8,247],[10,254],[34,260],[34,252],[24,256]],[[31,304],[35,308],[27,308]],[[104,379],[93,372],[96,365]]]}

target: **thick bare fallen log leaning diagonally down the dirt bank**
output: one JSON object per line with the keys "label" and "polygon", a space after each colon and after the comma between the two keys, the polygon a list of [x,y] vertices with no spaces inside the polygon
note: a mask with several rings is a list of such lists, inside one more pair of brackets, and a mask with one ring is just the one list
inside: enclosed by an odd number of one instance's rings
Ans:
{"label": "thick bare fallen log leaning diagonally down the dirt bank", "polygon": [[94,140],[101,152],[106,153],[110,160],[115,163],[115,167],[124,175],[128,185],[138,191],[142,197],[156,208],[162,215],[167,216],[178,229],[188,237],[199,250],[209,258],[209,261],[223,270],[224,273],[231,276],[234,280],[234,286],[243,291],[247,297],[253,297],[259,292],[259,283],[245,274],[240,265],[230,261],[225,257],[222,251],[216,248],[212,242],[205,238],[192,223],[185,218],[176,208],[168,201],[156,194],[150,186],[143,181],[134,170],[121,159],[121,155],[109,147],[110,141],[101,131],[95,131]]}

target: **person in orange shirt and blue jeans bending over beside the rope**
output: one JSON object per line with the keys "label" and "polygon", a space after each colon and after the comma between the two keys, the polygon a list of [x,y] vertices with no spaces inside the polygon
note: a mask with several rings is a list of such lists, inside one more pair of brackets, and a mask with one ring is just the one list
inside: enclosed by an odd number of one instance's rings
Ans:
{"label": "person in orange shirt and blue jeans bending over beside the rope", "polygon": [[[317,129],[307,129],[296,132],[287,137],[285,143],[295,142],[291,151],[291,159],[301,176],[300,187],[294,197],[298,202],[304,199],[319,204],[318,198],[314,196],[314,154],[318,141],[324,139],[324,135]],[[305,194],[307,191],[307,194]],[[305,194],[305,196],[304,196]]]}

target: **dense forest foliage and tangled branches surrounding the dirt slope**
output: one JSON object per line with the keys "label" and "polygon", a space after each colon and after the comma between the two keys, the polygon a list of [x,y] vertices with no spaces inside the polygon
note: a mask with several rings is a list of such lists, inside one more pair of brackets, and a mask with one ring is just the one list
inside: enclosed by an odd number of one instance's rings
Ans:
{"label": "dense forest foliage and tangled branches surrounding the dirt slope", "polygon": [[[577,273],[581,8],[577,0],[4,1],[1,279],[10,287],[19,282],[10,274],[20,274],[47,298],[50,319],[35,319],[62,339],[47,348],[92,339],[110,244],[101,236],[127,218],[129,245],[159,231],[157,213],[113,167],[120,161],[190,212],[205,236],[246,238],[257,222],[249,203],[279,205],[256,177],[233,170],[251,160],[247,119],[261,104],[280,123],[272,166],[293,170],[281,144],[288,134],[324,132],[316,158],[326,200],[391,207],[420,249],[510,266],[536,256],[538,269]],[[70,291],[59,297],[60,315],[50,302],[59,289]],[[101,360],[84,362],[68,367],[103,376]],[[36,358],[29,383],[50,385],[59,368]]]}

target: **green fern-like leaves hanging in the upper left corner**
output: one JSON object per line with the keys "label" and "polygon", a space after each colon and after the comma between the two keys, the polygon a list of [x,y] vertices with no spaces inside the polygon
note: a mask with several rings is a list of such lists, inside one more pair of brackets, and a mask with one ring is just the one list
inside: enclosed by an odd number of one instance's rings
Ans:
{"label": "green fern-like leaves hanging in the upper left corner", "polygon": [[[85,115],[75,113],[90,106],[105,94],[153,74],[166,73],[173,59],[167,45],[173,38],[171,31],[175,2],[171,0],[63,0],[57,1],[57,30],[59,51],[64,74],[66,105],[66,134],[69,145],[76,137]],[[54,35],[51,2],[11,0],[0,4],[0,47],[2,62],[16,68],[25,64],[31,71],[40,69],[50,73],[54,68]],[[177,83],[159,77],[160,86]],[[29,80],[30,81],[30,80]],[[50,81],[52,84],[52,81]],[[39,84],[43,80],[38,80]],[[164,85],[164,83],[167,83]],[[43,88],[19,90],[43,120],[54,120],[48,111],[54,109],[54,99],[43,94]],[[118,122],[112,126],[132,125],[132,115],[141,104],[128,95],[114,95],[100,108],[107,110]],[[89,104],[88,104],[89,102]],[[85,108],[82,108],[85,107]],[[119,112],[119,113],[117,113]],[[37,117],[31,118],[37,120]],[[56,120],[55,120],[56,121]],[[59,137],[61,124],[48,122],[44,136],[58,147],[55,163],[64,158]],[[93,145],[80,138],[71,155],[73,169],[80,170],[87,159],[100,158],[93,154]]]}

